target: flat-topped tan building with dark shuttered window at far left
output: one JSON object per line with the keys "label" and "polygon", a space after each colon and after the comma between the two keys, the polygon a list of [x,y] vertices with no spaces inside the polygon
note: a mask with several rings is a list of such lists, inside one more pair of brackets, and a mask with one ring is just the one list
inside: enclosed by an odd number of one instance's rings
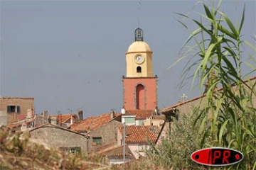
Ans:
{"label": "flat-topped tan building with dark shuttered window at far left", "polygon": [[34,98],[0,98],[0,111],[7,116],[7,124],[26,118],[27,111],[31,108],[34,109]]}

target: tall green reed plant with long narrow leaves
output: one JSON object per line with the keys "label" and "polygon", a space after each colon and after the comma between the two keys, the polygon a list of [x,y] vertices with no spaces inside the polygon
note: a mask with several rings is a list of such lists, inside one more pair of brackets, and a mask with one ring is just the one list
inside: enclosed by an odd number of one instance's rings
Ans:
{"label": "tall green reed plant with long narrow leaves", "polygon": [[[205,101],[201,103],[203,108],[199,113],[193,113],[196,118],[194,125],[201,125],[198,130],[200,135],[196,139],[201,147],[229,147],[244,154],[242,162],[224,169],[256,169],[256,108],[253,103],[256,82],[244,81],[249,74],[256,72],[256,61],[255,55],[243,52],[242,48],[247,45],[256,52],[256,47],[242,40],[245,6],[240,21],[234,24],[220,11],[221,1],[216,7],[215,2],[212,1],[210,6],[201,3],[204,13],[198,13],[199,20],[177,13],[196,23],[198,28],[190,31],[184,21],[178,21],[190,35],[181,48],[181,57],[174,64],[185,57],[197,59],[186,64],[183,75],[196,66],[192,82],[199,77],[199,88],[201,94],[205,95]],[[194,45],[188,46],[192,40],[195,41]],[[250,58],[250,63],[243,62],[245,56]],[[243,75],[242,64],[246,64],[251,72]],[[210,123],[208,128],[205,127],[206,122]],[[209,134],[210,138],[207,136]]]}

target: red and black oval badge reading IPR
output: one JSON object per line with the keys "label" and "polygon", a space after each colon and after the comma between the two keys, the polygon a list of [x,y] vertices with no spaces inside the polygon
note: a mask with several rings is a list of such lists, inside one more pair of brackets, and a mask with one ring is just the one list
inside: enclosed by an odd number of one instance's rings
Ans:
{"label": "red and black oval badge reading IPR", "polygon": [[234,149],[211,147],[193,152],[191,159],[193,162],[208,166],[228,166],[241,162],[243,154]]}

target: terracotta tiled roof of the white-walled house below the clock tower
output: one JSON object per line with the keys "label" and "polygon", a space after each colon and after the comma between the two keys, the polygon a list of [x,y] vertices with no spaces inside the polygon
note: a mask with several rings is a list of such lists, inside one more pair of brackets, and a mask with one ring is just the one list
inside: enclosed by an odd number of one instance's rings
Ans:
{"label": "terracotta tiled roof of the white-walled house below the clock tower", "polygon": [[[124,127],[119,126],[119,132],[123,133]],[[129,125],[126,128],[127,137],[126,142],[139,143],[139,142],[156,142],[159,135],[159,127],[154,125],[149,126],[136,126]]]}

